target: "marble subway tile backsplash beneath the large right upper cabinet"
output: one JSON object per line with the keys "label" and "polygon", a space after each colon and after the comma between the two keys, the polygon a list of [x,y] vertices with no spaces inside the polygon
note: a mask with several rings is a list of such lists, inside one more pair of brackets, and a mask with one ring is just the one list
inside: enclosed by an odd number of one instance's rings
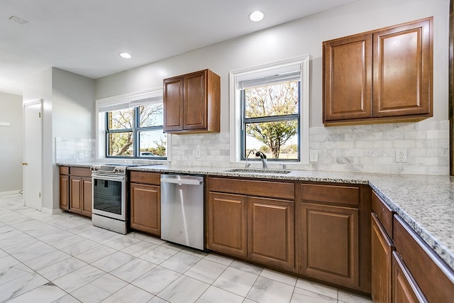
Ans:
{"label": "marble subway tile backsplash beneath the large right upper cabinet", "polygon": [[[319,162],[303,170],[449,175],[448,121],[311,128],[309,144]],[[396,162],[396,148],[407,162]]]}

